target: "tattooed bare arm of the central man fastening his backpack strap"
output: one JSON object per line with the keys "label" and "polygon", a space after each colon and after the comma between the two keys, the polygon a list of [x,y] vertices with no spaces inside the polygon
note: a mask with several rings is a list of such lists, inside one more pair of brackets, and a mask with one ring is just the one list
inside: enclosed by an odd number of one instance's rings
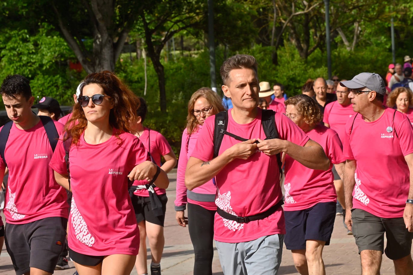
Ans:
{"label": "tattooed bare arm of the central man fastening his backpack strap", "polygon": [[234,159],[248,159],[257,149],[254,142],[255,140],[247,140],[237,143],[211,161],[202,161],[191,156],[185,172],[185,185],[188,190],[193,190],[214,178]]}

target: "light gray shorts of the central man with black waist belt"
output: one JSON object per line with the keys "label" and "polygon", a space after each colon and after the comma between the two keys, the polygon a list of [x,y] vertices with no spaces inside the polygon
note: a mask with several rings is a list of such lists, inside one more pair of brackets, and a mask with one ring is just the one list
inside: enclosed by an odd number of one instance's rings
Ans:
{"label": "light gray shorts of the central man with black waist belt", "polygon": [[219,261],[225,275],[276,275],[281,264],[284,235],[264,236],[249,242],[218,242]]}

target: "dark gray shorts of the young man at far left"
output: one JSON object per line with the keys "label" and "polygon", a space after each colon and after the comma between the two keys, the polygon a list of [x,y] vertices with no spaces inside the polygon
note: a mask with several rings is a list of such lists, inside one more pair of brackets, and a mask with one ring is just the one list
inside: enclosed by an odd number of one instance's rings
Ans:
{"label": "dark gray shorts of the young man at far left", "polygon": [[5,243],[16,275],[38,268],[53,273],[66,239],[67,219],[50,217],[26,224],[6,223]]}

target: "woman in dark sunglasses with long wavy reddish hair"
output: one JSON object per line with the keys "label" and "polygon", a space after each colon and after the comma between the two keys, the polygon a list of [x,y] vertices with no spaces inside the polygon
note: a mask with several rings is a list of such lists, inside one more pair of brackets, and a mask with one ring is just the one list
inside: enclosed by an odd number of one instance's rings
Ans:
{"label": "woman in dark sunglasses with long wavy reddish hair", "polygon": [[166,188],[169,180],[131,134],[139,102],[133,92],[109,71],[89,74],[80,90],[50,161],[57,183],[73,193],[69,256],[79,274],[129,275],[139,229],[128,186],[147,179]]}

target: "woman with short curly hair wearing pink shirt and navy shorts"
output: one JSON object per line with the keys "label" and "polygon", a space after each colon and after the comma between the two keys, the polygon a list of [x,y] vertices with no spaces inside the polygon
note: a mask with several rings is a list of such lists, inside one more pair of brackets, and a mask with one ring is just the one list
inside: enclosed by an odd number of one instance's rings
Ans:
{"label": "woman with short curly hair wearing pink shirt and navy shorts", "polygon": [[321,125],[323,115],[311,97],[285,101],[287,116],[320,144],[330,159],[327,171],[306,168],[285,155],[285,247],[292,252],[300,274],[325,274],[323,247],[330,244],[336,213],[332,165],[342,174],[344,156],[337,133]]}

